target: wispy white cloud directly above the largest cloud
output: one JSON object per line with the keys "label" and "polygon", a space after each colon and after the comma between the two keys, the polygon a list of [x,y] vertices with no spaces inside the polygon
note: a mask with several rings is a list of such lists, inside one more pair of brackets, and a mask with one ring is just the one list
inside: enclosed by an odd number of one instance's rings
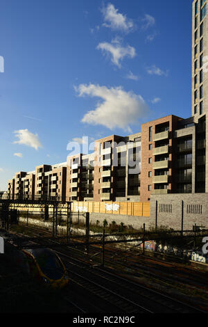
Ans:
{"label": "wispy white cloud directly above the largest cloud", "polygon": [[120,42],[121,41],[116,38],[115,40],[112,40],[111,43],[102,42],[99,43],[98,47],[96,47],[96,49],[102,50],[105,53],[110,54],[112,56],[112,63],[114,63],[114,65],[118,67],[121,67],[120,61],[122,61],[123,58],[134,58],[136,56],[136,50],[134,47],[130,47],[130,45],[122,47]]}

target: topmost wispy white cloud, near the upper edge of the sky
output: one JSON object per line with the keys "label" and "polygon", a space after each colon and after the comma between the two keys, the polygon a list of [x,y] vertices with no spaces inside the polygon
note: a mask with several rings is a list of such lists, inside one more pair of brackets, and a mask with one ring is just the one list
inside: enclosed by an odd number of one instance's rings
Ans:
{"label": "topmost wispy white cloud, near the upper edge of the sky", "polygon": [[103,26],[109,27],[116,31],[123,31],[129,33],[135,27],[132,19],[127,18],[125,15],[118,13],[118,9],[112,3],[108,3],[107,7],[102,9],[105,23]]}

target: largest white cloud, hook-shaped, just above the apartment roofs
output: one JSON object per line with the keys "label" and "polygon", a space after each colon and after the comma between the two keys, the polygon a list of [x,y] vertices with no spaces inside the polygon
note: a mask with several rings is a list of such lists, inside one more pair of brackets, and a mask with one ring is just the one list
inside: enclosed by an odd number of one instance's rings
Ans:
{"label": "largest white cloud, hook-shaped, just above the apartment roofs", "polygon": [[130,131],[130,125],[138,122],[148,112],[148,105],[141,97],[132,92],[125,92],[121,86],[107,88],[94,84],[80,84],[75,88],[80,97],[99,97],[103,102],[98,102],[96,109],[88,111],[82,122],[91,125],[103,125],[109,129],[119,127]]}

